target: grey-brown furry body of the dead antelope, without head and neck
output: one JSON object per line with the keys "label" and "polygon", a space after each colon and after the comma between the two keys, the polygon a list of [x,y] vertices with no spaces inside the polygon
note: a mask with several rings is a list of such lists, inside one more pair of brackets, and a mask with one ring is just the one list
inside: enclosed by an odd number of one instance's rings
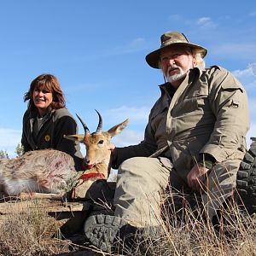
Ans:
{"label": "grey-brown furry body of the dead antelope, without head and neck", "polygon": [[73,158],[54,149],[30,151],[19,158],[0,160],[1,191],[9,196],[22,192],[60,195],[76,174]]}

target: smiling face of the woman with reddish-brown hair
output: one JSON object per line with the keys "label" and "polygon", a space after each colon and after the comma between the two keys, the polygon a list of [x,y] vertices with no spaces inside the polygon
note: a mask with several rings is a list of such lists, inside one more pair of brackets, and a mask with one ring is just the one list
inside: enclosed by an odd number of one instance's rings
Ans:
{"label": "smiling face of the woman with reddish-brown hair", "polygon": [[33,90],[33,102],[38,108],[39,116],[42,117],[49,111],[49,105],[53,101],[52,92],[48,89],[39,89],[36,87]]}

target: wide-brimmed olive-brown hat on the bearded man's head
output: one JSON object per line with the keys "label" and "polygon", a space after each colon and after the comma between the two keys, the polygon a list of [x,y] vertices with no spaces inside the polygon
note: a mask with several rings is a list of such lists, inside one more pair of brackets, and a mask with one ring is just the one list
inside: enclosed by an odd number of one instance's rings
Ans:
{"label": "wide-brimmed olive-brown hat on the bearded man's head", "polygon": [[165,32],[163,35],[161,35],[160,40],[161,40],[160,49],[156,49],[146,56],[146,61],[148,62],[148,65],[150,67],[160,68],[159,60],[160,60],[161,50],[166,49],[167,47],[170,47],[173,45],[183,45],[183,46],[188,46],[193,49],[196,49],[197,53],[198,52],[201,53],[202,58],[205,55],[207,55],[206,48],[198,44],[190,43],[188,38],[186,38],[185,35],[180,32]]}

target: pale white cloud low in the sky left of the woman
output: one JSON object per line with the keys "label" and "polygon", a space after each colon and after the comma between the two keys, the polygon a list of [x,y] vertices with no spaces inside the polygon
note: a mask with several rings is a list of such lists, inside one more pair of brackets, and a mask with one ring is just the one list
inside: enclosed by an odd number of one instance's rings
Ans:
{"label": "pale white cloud low in the sky left of the woman", "polygon": [[21,131],[0,128],[0,150],[5,150],[10,157],[15,156],[15,148],[20,143]]}

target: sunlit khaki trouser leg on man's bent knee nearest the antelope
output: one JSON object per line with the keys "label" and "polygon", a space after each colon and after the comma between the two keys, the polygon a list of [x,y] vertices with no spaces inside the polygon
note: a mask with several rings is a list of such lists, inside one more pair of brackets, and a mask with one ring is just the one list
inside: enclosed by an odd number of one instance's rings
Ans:
{"label": "sunlit khaki trouser leg on man's bent knee nearest the antelope", "polygon": [[166,158],[134,157],[119,166],[113,203],[115,216],[137,227],[159,225],[161,194],[170,177]]}

